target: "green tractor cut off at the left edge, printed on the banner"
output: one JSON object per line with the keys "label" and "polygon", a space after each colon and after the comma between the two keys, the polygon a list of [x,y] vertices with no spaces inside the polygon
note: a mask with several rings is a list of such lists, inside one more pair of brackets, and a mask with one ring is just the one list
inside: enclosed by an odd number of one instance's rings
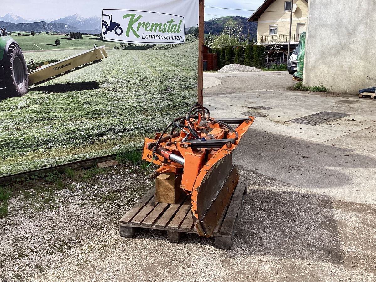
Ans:
{"label": "green tractor cut off at the left edge, printed on the banner", "polygon": [[0,96],[22,96],[27,93],[29,77],[20,45],[0,27]]}

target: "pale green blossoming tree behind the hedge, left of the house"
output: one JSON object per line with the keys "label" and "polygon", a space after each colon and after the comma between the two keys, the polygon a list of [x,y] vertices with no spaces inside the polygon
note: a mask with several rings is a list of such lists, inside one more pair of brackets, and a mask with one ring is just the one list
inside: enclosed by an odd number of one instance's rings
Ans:
{"label": "pale green blossoming tree behind the hedge, left of the house", "polygon": [[228,20],[224,24],[224,28],[220,35],[209,34],[213,38],[212,43],[209,47],[221,48],[229,46],[239,46],[244,44],[244,36],[241,35],[241,30],[243,27],[241,24],[234,20]]}

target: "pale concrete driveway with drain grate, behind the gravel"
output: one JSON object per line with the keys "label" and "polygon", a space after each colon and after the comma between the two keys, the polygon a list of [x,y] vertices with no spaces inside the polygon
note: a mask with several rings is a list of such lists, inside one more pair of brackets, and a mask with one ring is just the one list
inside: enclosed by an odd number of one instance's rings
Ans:
{"label": "pale concrete driveway with drain grate, behind the gravel", "polygon": [[[375,100],[291,91],[296,82],[286,71],[204,77],[221,81],[204,90],[213,117],[265,115],[256,117],[244,136],[235,153],[238,164],[337,199],[376,202]],[[348,116],[316,126],[289,122],[324,111]]]}

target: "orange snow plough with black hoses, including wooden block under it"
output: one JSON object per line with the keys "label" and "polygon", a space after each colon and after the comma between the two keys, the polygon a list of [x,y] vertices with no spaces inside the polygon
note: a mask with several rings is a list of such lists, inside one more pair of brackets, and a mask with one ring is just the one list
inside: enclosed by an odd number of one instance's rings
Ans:
{"label": "orange snow plough with black hoses, including wooden block under it", "polygon": [[175,204],[180,194],[189,195],[200,236],[213,235],[230,202],[239,180],[231,154],[254,119],[214,119],[196,104],[154,139],[145,139],[143,159],[160,166],[150,176],[156,178],[156,202]]}

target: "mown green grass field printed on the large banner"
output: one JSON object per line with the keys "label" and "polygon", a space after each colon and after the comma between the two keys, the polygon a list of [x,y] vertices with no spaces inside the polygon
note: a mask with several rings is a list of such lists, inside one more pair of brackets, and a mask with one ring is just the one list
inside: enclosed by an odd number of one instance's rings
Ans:
{"label": "mown green grass field printed on the large banner", "polygon": [[[79,52],[24,55],[38,62]],[[0,176],[141,148],[197,101],[196,39],[108,54],[0,101]]]}

